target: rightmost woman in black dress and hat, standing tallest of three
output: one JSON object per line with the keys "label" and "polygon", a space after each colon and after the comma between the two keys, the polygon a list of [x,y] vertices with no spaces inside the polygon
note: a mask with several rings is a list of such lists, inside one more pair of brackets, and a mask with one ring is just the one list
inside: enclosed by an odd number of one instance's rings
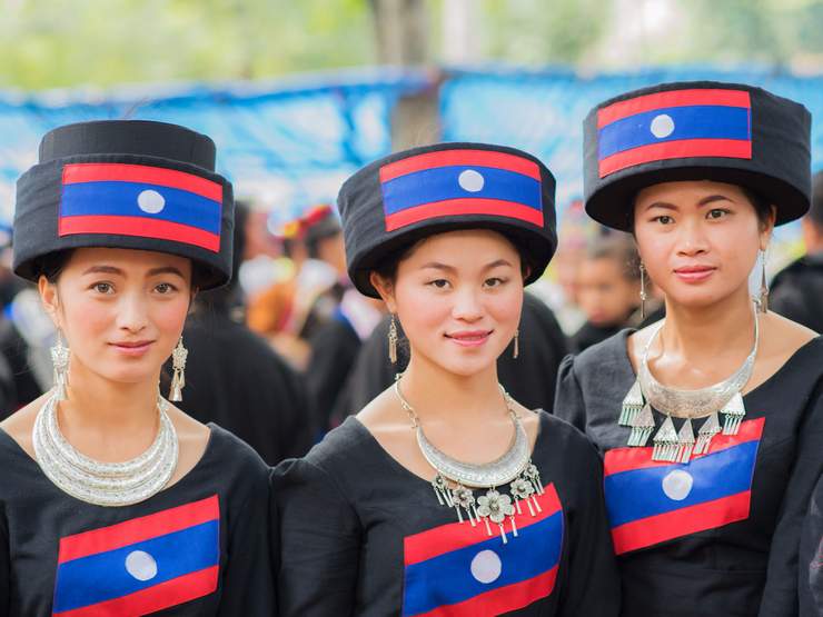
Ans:
{"label": "rightmost woman in black dress and hat, standing tallest of three", "polygon": [[810,123],[714,82],[629,92],[586,120],[587,211],[634,233],[666,305],[567,358],[555,402],[605,454],[624,615],[797,614],[823,338],[766,311],[760,269],[753,302],[748,276],[774,225],[809,208]]}

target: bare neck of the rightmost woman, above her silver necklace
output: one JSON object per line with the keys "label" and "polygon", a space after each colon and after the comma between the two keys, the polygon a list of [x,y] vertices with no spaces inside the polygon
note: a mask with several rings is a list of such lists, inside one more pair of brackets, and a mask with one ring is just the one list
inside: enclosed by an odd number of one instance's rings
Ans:
{"label": "bare neck of the rightmost woman, above her silver necklace", "polygon": [[716,359],[730,351],[745,350],[753,344],[754,309],[748,287],[723,300],[698,309],[666,299],[666,321],[654,347],[674,352],[693,362]]}

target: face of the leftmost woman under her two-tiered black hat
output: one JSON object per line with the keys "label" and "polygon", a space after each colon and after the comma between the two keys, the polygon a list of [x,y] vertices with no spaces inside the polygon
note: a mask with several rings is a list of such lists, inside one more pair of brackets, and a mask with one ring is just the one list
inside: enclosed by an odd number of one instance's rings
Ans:
{"label": "face of the leftmost woman under her two-tiered black hat", "polygon": [[41,277],[39,287],[71,349],[71,377],[156,381],[186,321],[191,261],[155,251],[77,249],[57,283]]}

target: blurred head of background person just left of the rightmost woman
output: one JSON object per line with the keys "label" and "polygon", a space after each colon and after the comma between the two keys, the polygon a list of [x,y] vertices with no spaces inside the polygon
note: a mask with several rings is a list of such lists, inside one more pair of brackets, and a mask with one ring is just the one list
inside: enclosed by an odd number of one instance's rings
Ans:
{"label": "blurred head of background person just left of the rightmost woman", "polygon": [[639,308],[641,270],[634,241],[611,233],[594,242],[577,269],[577,302],[586,322],[571,338],[579,354],[628,325]]}

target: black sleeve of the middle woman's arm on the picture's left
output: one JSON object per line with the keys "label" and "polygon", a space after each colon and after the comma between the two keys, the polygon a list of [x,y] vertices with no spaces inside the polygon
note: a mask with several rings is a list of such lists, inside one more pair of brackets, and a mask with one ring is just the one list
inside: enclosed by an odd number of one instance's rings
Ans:
{"label": "black sleeve of the middle woman's arm on the picture's left", "polygon": [[360,525],[337,484],[307,460],[287,460],[272,474],[271,498],[280,520],[280,617],[354,615]]}

